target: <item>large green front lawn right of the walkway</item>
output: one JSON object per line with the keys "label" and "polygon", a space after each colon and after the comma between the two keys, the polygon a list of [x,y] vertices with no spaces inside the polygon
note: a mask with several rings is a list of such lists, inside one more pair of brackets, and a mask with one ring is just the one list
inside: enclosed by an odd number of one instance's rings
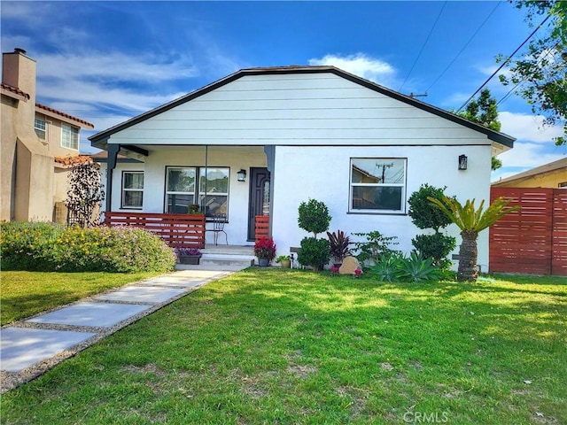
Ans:
{"label": "large green front lawn right of the walkway", "polygon": [[567,423],[566,318],[564,279],[252,268],[4,394],[2,423]]}

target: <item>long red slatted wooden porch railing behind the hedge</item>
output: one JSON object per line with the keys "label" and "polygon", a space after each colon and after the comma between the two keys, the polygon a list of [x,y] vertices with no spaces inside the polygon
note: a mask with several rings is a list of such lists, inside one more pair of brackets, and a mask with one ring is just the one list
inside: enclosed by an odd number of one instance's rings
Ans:
{"label": "long red slatted wooden porch railing behind the hedge", "polygon": [[106,212],[105,224],[144,228],[172,248],[205,248],[204,214]]}

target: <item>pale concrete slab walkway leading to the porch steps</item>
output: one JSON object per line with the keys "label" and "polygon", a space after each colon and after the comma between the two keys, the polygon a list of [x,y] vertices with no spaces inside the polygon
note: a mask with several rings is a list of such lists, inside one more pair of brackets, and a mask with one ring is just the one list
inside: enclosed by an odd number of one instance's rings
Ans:
{"label": "pale concrete slab walkway leading to the porch steps", "polygon": [[208,282],[245,267],[183,267],[0,329],[0,393]]}

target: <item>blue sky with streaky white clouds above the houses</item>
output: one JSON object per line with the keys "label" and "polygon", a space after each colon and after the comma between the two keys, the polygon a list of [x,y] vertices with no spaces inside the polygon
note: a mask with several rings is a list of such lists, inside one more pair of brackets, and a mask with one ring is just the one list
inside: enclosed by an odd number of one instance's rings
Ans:
{"label": "blue sky with streaky white clouds above the houses", "polygon": [[[37,101],[95,124],[87,137],[239,69],[333,65],[456,110],[532,33],[508,2],[10,2],[2,51],[37,61]],[[537,37],[539,34],[536,34]],[[517,137],[493,181],[565,158],[524,99],[493,78]]]}

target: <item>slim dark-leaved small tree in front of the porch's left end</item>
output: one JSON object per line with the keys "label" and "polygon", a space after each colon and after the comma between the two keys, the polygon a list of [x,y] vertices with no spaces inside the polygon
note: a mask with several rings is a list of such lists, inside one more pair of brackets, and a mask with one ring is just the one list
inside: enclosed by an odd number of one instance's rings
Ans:
{"label": "slim dark-leaved small tree in front of the porch's left end", "polygon": [[69,210],[69,221],[82,228],[96,226],[98,218],[95,212],[105,199],[97,164],[89,162],[74,166],[68,180],[65,205]]}

